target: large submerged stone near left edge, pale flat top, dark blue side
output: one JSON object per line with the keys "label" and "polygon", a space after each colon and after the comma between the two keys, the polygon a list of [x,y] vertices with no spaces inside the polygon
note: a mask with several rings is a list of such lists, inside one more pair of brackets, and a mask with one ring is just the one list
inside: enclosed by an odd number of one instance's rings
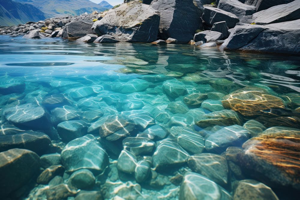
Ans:
{"label": "large submerged stone near left edge, pale flat top, dark blue side", "polygon": [[3,110],[4,117],[13,124],[44,130],[49,128],[49,118],[42,106],[27,103]]}

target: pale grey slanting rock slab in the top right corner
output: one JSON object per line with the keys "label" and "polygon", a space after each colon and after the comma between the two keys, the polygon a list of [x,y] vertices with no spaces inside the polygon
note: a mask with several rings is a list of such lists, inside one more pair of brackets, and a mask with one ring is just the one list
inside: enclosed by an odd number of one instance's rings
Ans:
{"label": "pale grey slanting rock slab in the top right corner", "polygon": [[300,19],[300,0],[282,4],[254,13],[252,23],[263,25]]}

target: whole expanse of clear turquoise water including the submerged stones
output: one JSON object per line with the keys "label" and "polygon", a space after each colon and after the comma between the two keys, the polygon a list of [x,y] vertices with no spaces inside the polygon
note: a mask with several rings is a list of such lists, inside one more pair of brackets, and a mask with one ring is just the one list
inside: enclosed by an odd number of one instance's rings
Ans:
{"label": "whole expanse of clear turquoise water including the submerged stones", "polygon": [[296,199],[299,76],[295,55],[1,36],[0,197]]}

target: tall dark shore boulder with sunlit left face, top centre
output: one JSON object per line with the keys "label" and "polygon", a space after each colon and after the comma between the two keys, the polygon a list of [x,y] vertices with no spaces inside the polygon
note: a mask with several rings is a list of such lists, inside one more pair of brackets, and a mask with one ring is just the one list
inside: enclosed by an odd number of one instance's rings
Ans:
{"label": "tall dark shore boulder with sunlit left face, top centre", "polygon": [[159,32],[164,40],[171,37],[188,42],[202,25],[202,11],[193,0],[154,0],[151,6],[161,13]]}

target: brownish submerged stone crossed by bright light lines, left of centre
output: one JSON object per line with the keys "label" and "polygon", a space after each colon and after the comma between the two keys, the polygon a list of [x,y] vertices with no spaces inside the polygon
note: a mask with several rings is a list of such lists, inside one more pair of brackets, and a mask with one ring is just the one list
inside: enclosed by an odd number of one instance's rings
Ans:
{"label": "brownish submerged stone crossed by bright light lines, left of centre", "polygon": [[126,121],[118,116],[108,118],[103,125],[99,128],[101,138],[106,138],[110,141],[116,141],[131,135],[134,130],[135,124]]}

